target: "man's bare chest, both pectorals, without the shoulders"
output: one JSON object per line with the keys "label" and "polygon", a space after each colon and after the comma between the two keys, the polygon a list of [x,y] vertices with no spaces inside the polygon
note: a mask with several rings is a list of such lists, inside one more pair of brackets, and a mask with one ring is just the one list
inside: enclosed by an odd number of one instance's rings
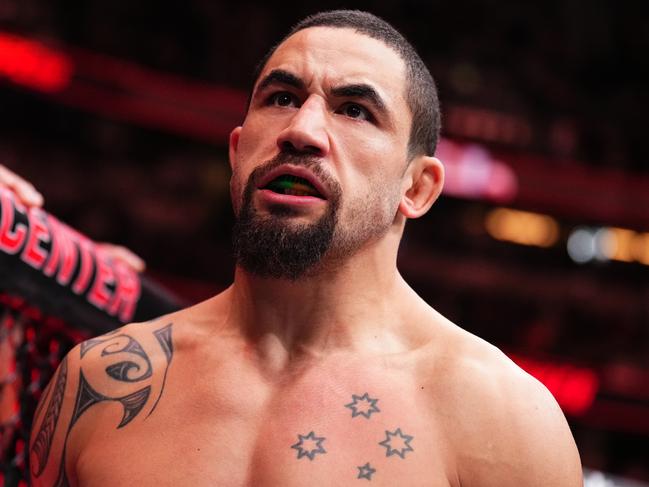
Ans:
{"label": "man's bare chest, both pectorals, without the shoulders", "polygon": [[80,483],[450,485],[448,447],[411,375],[326,367],[268,392],[239,372],[184,386],[170,376],[153,415],[82,452]]}

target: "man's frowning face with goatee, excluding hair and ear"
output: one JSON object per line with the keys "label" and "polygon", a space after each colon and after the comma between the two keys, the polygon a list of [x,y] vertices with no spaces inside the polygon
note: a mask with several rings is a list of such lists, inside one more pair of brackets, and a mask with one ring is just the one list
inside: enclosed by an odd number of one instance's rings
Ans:
{"label": "man's frowning face with goatee, excluding hair and ear", "polygon": [[264,67],[230,139],[239,264],[296,279],[384,236],[407,166],[403,60],[351,29],[315,27]]}

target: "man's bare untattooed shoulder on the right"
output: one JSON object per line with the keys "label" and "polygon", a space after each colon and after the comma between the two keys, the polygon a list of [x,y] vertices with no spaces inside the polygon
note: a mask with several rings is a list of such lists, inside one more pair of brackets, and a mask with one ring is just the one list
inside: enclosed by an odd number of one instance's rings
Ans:
{"label": "man's bare untattooed shoulder on the right", "polygon": [[545,386],[484,340],[450,322],[440,329],[431,399],[461,485],[583,485],[572,434]]}

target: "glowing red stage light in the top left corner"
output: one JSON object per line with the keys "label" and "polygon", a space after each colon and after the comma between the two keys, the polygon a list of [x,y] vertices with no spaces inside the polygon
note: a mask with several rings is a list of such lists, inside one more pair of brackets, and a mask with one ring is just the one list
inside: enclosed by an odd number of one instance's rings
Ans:
{"label": "glowing red stage light in the top left corner", "polygon": [[0,33],[0,76],[47,93],[63,90],[72,77],[72,61],[40,42]]}

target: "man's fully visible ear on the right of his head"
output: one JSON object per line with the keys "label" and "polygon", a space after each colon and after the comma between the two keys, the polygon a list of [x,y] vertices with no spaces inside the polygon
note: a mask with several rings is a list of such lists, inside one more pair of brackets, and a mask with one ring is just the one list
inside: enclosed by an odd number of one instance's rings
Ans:
{"label": "man's fully visible ear on the right of his head", "polygon": [[410,162],[404,181],[408,186],[399,203],[399,211],[406,218],[419,218],[433,206],[442,192],[444,166],[435,157],[416,157]]}

